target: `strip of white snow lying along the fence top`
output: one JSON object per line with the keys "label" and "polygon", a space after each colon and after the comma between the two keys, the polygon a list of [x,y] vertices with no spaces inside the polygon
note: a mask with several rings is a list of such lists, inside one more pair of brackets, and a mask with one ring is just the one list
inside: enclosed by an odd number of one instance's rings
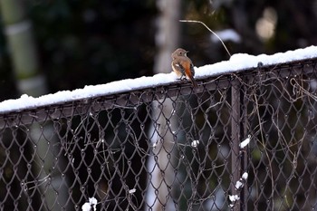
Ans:
{"label": "strip of white snow lying along the fence top", "polygon": [[[229,61],[208,64],[198,68],[195,67],[195,77],[199,79],[206,76],[254,68],[257,67],[258,62],[262,62],[264,65],[270,65],[274,63],[292,62],[294,60],[303,60],[314,57],[317,57],[317,46],[311,46],[286,53],[275,53],[273,55],[261,54],[254,56],[246,53],[237,53],[231,56]],[[118,93],[121,91],[149,88],[157,85],[169,84],[170,82],[176,82],[177,80],[178,77],[174,72],[159,73],[149,77],[126,79],[94,86],[85,86],[83,89],[77,89],[74,91],[58,91],[54,94],[47,94],[38,98],[24,94],[20,99],[0,102],[0,113],[32,109],[37,106],[81,100],[90,97]]]}

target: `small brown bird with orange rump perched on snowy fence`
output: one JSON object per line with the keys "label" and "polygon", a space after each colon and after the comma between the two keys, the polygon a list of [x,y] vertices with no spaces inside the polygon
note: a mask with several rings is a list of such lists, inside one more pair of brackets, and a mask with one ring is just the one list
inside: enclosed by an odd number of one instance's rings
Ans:
{"label": "small brown bird with orange rump perched on snowy fence", "polygon": [[193,62],[187,57],[187,51],[178,48],[172,53],[172,69],[182,79],[184,76],[189,80],[193,87],[197,87],[197,82],[194,79],[195,71]]}

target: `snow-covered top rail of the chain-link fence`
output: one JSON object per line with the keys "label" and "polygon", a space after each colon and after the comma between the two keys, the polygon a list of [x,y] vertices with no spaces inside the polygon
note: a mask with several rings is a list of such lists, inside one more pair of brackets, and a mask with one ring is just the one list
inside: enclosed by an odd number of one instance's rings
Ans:
{"label": "snow-covered top rail of the chain-link fence", "polygon": [[[232,73],[267,72],[279,70],[279,75],[289,76],[288,69],[305,64],[312,65],[317,62],[317,46],[298,49],[286,53],[273,55],[252,56],[244,53],[235,54],[229,61],[218,62],[196,68],[196,79],[200,86],[196,92],[219,88],[219,82],[208,82],[216,76]],[[293,74],[298,74],[294,72]],[[229,80],[230,81],[230,80]],[[228,80],[223,80],[227,86]],[[127,79],[119,82],[86,86],[75,91],[59,91],[54,94],[33,98],[23,95],[17,100],[0,102],[0,127],[9,127],[14,124],[43,121],[47,118],[58,119],[75,114],[87,113],[94,102],[96,110],[106,110],[114,106],[130,106],[141,102],[155,101],[168,95],[172,97],[179,94],[193,92],[190,83],[180,82],[174,72],[159,73],[151,77]],[[74,109],[75,108],[75,109]],[[49,114],[49,116],[48,116]],[[19,120],[19,122],[16,122]]]}

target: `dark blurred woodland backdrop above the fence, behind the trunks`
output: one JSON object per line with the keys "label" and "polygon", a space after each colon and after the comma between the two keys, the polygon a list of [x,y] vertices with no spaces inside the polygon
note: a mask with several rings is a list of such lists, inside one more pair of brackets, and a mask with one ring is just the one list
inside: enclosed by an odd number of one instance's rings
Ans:
{"label": "dark blurred woodland backdrop above the fence, behind the trunks", "polygon": [[[151,75],[157,53],[154,0],[24,0],[50,92]],[[178,8],[176,8],[178,9]],[[276,53],[317,43],[317,1],[182,1],[182,19],[232,29],[231,53]],[[1,22],[0,22],[1,23]],[[180,23],[180,45],[196,66],[228,59],[200,24]],[[2,27],[0,25],[0,27]],[[3,31],[3,30],[2,30]],[[0,100],[18,97],[10,52],[0,35]]]}

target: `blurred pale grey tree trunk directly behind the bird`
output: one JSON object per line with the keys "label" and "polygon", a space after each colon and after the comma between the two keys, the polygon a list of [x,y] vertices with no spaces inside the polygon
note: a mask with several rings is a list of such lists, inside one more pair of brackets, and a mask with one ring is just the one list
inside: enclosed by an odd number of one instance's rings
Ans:
{"label": "blurred pale grey tree trunk directly behind the bird", "polygon": [[[178,46],[180,1],[159,0],[158,7],[160,11],[156,36],[158,54],[154,64],[154,73],[171,72],[171,53]],[[148,201],[154,211],[164,210],[164,207],[170,210],[169,208],[175,207],[172,205],[173,201],[170,198],[170,187],[173,185],[175,177],[174,168],[172,167],[173,160],[171,160],[175,158],[175,156],[172,156],[175,151],[175,148],[173,148],[175,139],[170,127],[177,127],[177,125],[173,119],[170,119],[169,122],[166,119],[166,117],[171,118],[173,113],[171,101],[168,99],[166,101],[155,101],[152,106],[153,120],[158,120],[154,122],[153,127],[155,129],[152,131],[159,133],[158,136],[154,136],[159,139],[152,139],[152,144],[155,146],[154,156],[158,159],[149,158],[149,169],[154,170],[149,181],[149,187],[152,188],[149,188]]]}

